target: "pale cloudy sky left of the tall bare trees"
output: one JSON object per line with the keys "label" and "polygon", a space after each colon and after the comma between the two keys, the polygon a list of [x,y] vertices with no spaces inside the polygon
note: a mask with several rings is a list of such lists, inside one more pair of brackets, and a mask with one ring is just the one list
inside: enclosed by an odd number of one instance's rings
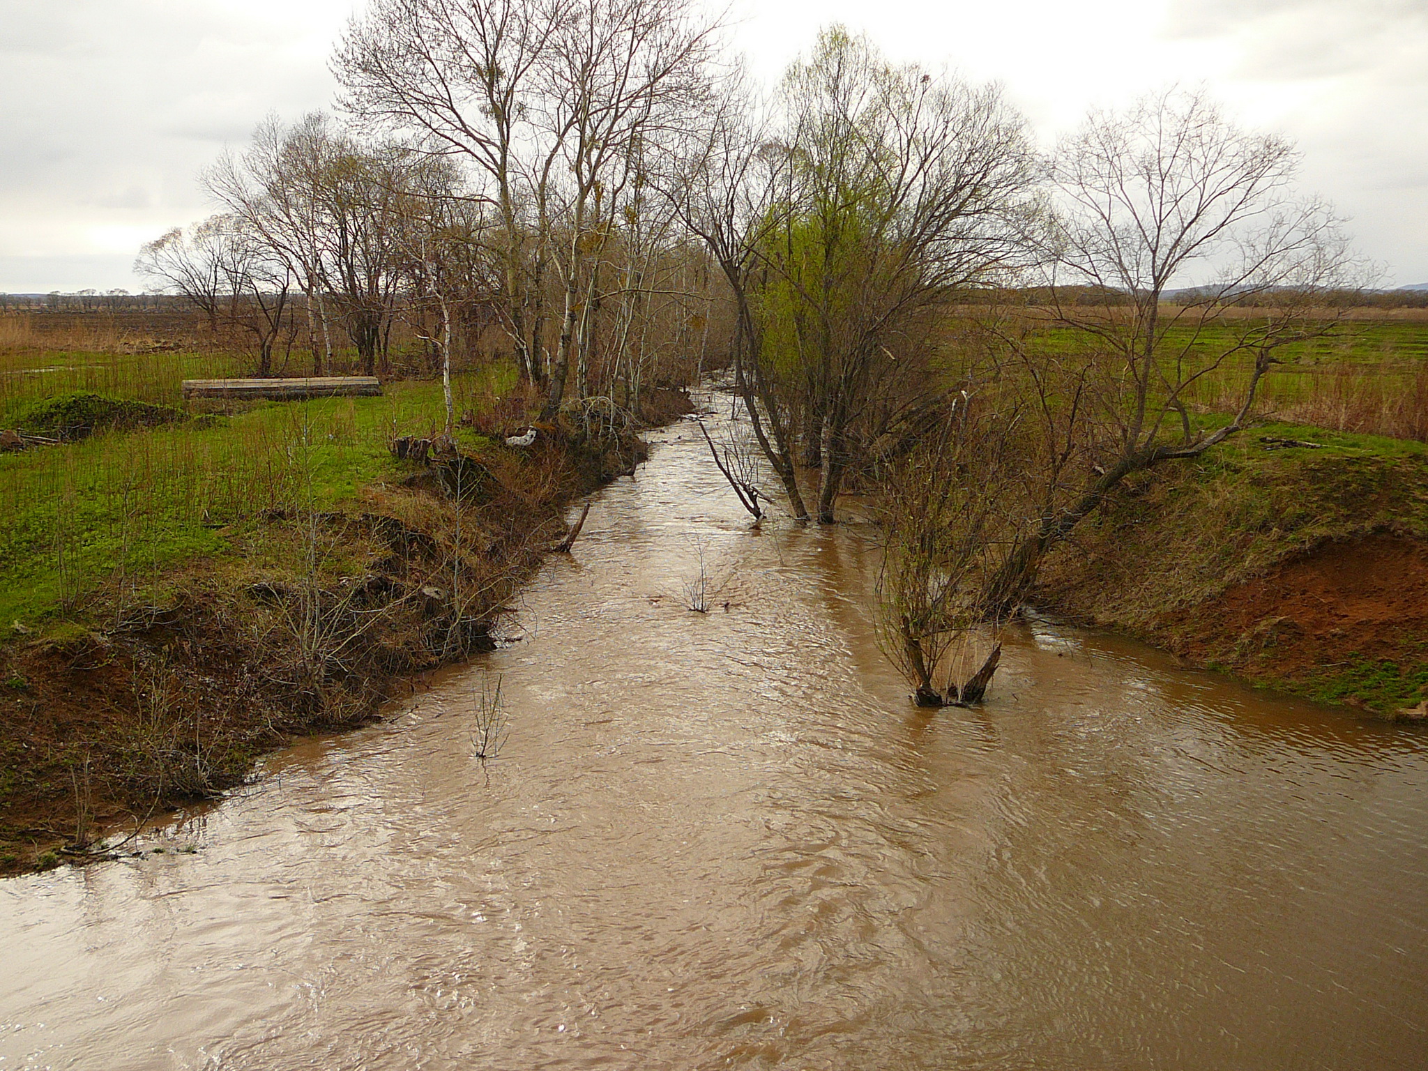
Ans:
{"label": "pale cloudy sky left of the tall bare trees", "polygon": [[[330,101],[324,57],[346,9],[0,0],[0,288],[134,288],[133,253],[114,243],[206,214],[197,171],[226,143],[268,111]],[[26,266],[44,287],[16,276]]]}

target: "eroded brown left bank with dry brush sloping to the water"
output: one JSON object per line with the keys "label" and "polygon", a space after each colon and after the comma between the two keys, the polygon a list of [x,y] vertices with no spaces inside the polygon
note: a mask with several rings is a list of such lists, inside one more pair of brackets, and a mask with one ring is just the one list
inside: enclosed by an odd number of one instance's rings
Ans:
{"label": "eroded brown left bank with dry brush sloping to the water", "polygon": [[[688,410],[680,391],[655,401],[647,418]],[[17,625],[0,645],[0,874],[83,858],[490,650],[564,507],[644,458],[633,433],[590,424],[563,414],[524,450],[404,463],[341,510],[267,510],[224,531],[221,557],[157,584],[113,577],[43,635]]]}

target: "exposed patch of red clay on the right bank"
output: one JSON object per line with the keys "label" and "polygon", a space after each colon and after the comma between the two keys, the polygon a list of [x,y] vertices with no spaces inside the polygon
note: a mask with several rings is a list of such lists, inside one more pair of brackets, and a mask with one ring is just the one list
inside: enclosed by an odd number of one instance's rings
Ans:
{"label": "exposed patch of red clay on the right bank", "polygon": [[1421,660],[1428,543],[1375,534],[1327,543],[1208,604],[1167,615],[1175,651],[1200,663],[1304,680],[1347,661]]}

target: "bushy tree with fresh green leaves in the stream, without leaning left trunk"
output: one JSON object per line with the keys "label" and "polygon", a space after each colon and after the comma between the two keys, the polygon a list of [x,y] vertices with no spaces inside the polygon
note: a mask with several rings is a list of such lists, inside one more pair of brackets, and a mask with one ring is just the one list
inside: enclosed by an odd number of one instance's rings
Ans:
{"label": "bushy tree with fresh green leaves in the stream, without leaning left trunk", "polygon": [[1035,178],[1024,124],[994,86],[885,60],[824,31],[783,87],[780,226],[760,248],[767,361],[801,388],[804,454],[834,520],[853,430],[902,378],[930,311],[1007,280]]}

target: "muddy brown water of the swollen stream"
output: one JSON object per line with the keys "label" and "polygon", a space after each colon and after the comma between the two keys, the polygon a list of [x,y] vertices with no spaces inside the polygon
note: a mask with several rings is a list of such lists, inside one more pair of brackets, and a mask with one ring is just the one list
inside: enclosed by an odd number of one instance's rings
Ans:
{"label": "muddy brown water of the swollen stream", "polygon": [[1428,735],[1045,623],[925,717],[870,533],[651,438],[518,643],[0,885],[0,1068],[1428,1065]]}

